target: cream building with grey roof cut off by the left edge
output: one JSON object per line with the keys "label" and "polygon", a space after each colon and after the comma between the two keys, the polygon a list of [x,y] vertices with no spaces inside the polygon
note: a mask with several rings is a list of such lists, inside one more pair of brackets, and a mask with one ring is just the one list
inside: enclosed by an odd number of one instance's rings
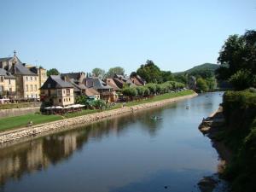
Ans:
{"label": "cream building with grey roof cut off by the left edge", "polygon": [[0,68],[0,98],[15,98],[16,79],[11,73]]}

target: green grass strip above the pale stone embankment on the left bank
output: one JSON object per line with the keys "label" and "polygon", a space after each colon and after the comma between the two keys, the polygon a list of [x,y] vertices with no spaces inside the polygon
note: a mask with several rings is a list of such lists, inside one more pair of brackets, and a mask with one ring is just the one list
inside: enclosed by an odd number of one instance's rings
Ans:
{"label": "green grass strip above the pale stone embankment on the left bank", "polygon": [[[166,94],[163,94],[160,96],[154,96],[153,98],[150,98],[150,99],[144,99],[141,101],[134,101],[134,102],[127,102],[126,106],[131,107],[134,105],[144,104],[144,103],[148,103],[148,102],[158,102],[161,100],[170,99],[170,98],[174,98],[174,97],[178,97],[178,96],[188,96],[193,93],[195,93],[193,90],[183,90],[183,91],[180,91],[177,93],[166,93]],[[108,108],[108,109],[104,109],[104,110],[112,110],[112,109],[116,109],[116,108],[121,108],[121,105],[122,105],[121,103],[117,103],[113,108]],[[10,129],[24,127],[27,125],[27,123],[29,121],[32,121],[33,125],[38,125],[38,124],[44,124],[44,123],[48,123],[48,122],[55,121],[55,120],[73,118],[73,117],[77,117],[77,116],[81,116],[81,115],[85,115],[85,114],[91,114],[91,113],[98,113],[101,111],[102,110],[99,110],[99,109],[93,109],[93,110],[88,109],[88,110],[82,110],[82,111],[76,112],[76,113],[67,113],[67,114],[64,114],[63,116],[31,113],[31,114],[20,115],[20,116],[16,116],[16,117],[3,118],[3,119],[0,119],[0,131],[6,131],[6,130],[10,130]]]}

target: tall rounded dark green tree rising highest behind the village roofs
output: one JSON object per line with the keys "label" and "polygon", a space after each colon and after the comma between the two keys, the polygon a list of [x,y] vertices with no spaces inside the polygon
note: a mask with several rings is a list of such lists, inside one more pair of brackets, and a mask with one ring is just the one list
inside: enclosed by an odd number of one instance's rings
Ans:
{"label": "tall rounded dark green tree rising highest behind the village roofs", "polygon": [[154,65],[154,62],[150,60],[146,61],[145,65],[137,69],[137,74],[148,83],[162,82],[160,68]]}

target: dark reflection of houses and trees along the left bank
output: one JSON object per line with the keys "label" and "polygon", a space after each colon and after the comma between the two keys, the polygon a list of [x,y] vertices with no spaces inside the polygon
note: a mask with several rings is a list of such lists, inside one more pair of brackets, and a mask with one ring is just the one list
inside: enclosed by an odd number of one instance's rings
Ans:
{"label": "dark reflection of houses and trees along the left bank", "polygon": [[103,137],[113,133],[117,136],[122,135],[127,129],[126,125],[132,125],[137,120],[141,128],[154,137],[161,121],[150,120],[150,116],[153,113],[160,114],[162,110],[158,108],[144,113],[120,116],[117,119],[107,119],[75,131],[65,131],[32,142],[2,148],[0,149],[0,184],[3,186],[9,178],[20,179],[26,173],[42,171],[49,165],[67,160],[76,150],[84,148],[89,140],[100,142]]}

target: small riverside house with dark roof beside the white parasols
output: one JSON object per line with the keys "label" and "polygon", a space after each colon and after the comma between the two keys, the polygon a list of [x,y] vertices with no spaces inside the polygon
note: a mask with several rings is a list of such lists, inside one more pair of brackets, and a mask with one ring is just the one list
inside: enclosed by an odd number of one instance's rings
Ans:
{"label": "small riverside house with dark roof beside the white parasols", "polygon": [[74,103],[73,84],[61,79],[60,75],[50,75],[40,88],[41,101],[49,106],[68,106]]}

